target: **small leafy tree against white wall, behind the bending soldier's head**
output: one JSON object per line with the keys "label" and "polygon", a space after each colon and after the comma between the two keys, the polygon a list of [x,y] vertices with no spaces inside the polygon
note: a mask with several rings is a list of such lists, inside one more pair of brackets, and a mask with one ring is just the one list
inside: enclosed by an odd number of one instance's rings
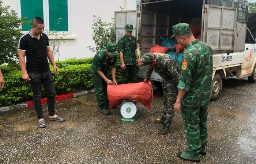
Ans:
{"label": "small leafy tree against white wall, behind the bending soldier's head", "polygon": [[93,52],[106,49],[108,43],[114,43],[114,18],[111,18],[110,23],[104,23],[101,17],[93,15],[93,40],[96,47],[87,47]]}

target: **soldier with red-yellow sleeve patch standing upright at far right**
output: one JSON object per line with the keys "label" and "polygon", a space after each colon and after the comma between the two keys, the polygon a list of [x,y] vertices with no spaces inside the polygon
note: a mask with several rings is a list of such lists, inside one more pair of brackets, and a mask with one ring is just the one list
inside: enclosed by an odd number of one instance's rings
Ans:
{"label": "soldier with red-yellow sleeve patch standing upright at far right", "polygon": [[179,152],[178,157],[200,162],[199,153],[206,155],[208,145],[206,120],[211,97],[212,50],[206,43],[194,38],[189,24],[179,23],[172,30],[172,37],[185,48],[180,62],[179,92],[174,110],[181,112],[188,147],[187,152]]}

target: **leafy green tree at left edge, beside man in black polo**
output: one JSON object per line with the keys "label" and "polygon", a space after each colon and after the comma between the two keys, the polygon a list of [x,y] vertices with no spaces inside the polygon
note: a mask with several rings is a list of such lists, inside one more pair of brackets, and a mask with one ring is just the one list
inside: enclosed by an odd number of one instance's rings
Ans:
{"label": "leafy green tree at left edge, beside man in black polo", "polygon": [[16,63],[18,59],[18,40],[22,36],[22,23],[27,24],[27,18],[19,18],[10,6],[3,6],[0,0],[0,65]]}

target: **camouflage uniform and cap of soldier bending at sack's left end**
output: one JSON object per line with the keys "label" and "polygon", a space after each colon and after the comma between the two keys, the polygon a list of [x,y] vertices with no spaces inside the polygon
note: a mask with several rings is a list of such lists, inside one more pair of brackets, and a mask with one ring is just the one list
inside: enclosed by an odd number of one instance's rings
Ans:
{"label": "camouflage uniform and cap of soldier bending at sack's left end", "polygon": [[[110,58],[107,51],[114,55]],[[100,50],[96,53],[93,58],[93,63],[91,64],[91,76],[93,78],[93,83],[96,92],[96,99],[98,106],[101,110],[104,108],[109,108],[109,100],[107,95],[107,83],[105,80],[97,73],[97,70],[101,70],[102,73],[109,79],[109,67],[116,67],[117,60],[117,47],[115,44],[108,44],[106,50]]]}

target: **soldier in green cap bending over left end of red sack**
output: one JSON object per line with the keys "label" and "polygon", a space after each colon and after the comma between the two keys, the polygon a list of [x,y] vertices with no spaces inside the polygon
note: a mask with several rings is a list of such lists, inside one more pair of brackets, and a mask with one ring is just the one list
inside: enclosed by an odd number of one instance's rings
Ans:
{"label": "soldier in green cap bending over left end of red sack", "polygon": [[[96,53],[91,64],[91,76],[96,92],[96,99],[99,109],[103,114],[110,114],[109,100],[107,95],[107,85],[117,85],[116,83],[116,44],[109,43],[106,50]],[[112,80],[109,79],[109,67],[111,67]]]}

